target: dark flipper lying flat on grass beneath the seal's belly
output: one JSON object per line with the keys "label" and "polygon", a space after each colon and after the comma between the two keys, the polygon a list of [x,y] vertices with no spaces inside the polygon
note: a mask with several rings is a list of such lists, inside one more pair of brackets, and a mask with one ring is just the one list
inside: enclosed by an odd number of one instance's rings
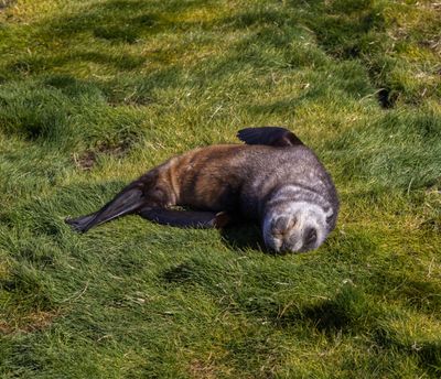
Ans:
{"label": "dark flipper lying flat on grass beneath the seal's belly", "polygon": [[166,208],[144,208],[139,215],[150,221],[180,228],[217,228],[225,227],[232,219],[225,212],[173,210]]}

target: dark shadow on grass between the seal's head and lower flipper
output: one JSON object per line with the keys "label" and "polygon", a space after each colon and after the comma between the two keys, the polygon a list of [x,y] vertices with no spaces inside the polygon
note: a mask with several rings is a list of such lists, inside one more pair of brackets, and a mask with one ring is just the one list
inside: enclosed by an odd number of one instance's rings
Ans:
{"label": "dark shadow on grass between the seal's head and lower flipper", "polygon": [[222,242],[229,249],[252,249],[268,252],[261,231],[255,224],[234,224],[220,229],[220,236]]}

